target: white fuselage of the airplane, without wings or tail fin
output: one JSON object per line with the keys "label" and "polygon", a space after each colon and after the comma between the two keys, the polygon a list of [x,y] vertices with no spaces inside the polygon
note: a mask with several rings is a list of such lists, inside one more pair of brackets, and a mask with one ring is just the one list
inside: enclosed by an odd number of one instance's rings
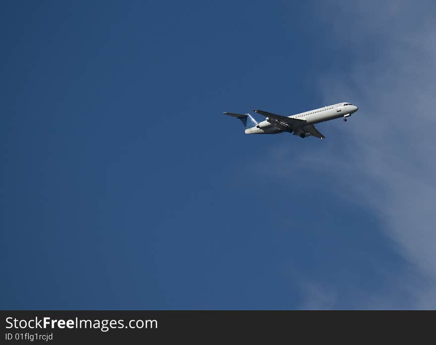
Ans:
{"label": "white fuselage of the airplane, without wings or tail fin", "polygon": [[[315,123],[325,122],[339,117],[347,117],[351,114],[357,112],[358,108],[355,105],[349,103],[337,103],[323,108],[318,108],[310,110],[308,112],[299,113],[295,115],[288,116],[290,118],[297,118],[305,120],[304,126],[313,125]],[[268,118],[267,118],[268,119]],[[304,126],[301,127],[304,130]],[[277,128],[268,120],[259,122],[256,126],[247,128],[245,130],[246,134],[274,134],[280,133],[283,130]]]}

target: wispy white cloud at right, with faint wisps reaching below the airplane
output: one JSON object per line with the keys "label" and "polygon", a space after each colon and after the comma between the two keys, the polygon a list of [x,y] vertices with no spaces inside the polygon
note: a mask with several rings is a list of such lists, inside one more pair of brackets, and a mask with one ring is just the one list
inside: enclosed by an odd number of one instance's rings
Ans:
{"label": "wispy white cloud at right, with faint wisps reaching below the airplane", "polygon": [[[330,174],[332,184],[346,187],[336,190],[375,214],[408,263],[401,275],[386,274],[401,298],[381,292],[350,308],[436,308],[435,10],[431,2],[412,1],[338,1],[319,8],[348,19],[332,25],[338,50],[352,57],[341,78],[321,76],[324,101],[350,101],[359,112],[351,118],[355,123],[337,128],[346,143],[341,160],[332,159],[335,148],[307,156],[305,163]],[[280,172],[299,169],[283,163],[288,154],[274,150]],[[338,174],[342,178],[334,179]],[[346,307],[322,286],[311,284],[308,291],[320,302],[303,308]]]}

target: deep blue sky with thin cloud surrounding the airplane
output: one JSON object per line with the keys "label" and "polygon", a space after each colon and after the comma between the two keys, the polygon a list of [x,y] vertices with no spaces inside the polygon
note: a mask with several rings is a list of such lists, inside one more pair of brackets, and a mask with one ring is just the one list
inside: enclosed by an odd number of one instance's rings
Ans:
{"label": "deep blue sky with thin cloud surrounding the airplane", "polygon": [[[1,308],[434,308],[435,152],[391,127],[432,99],[414,8],[4,2]],[[221,115],[340,101],[323,141]]]}

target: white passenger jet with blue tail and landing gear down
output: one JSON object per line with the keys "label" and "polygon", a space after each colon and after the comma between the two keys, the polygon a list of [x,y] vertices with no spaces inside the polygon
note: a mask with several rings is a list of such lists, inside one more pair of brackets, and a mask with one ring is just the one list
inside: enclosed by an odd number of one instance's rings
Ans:
{"label": "white passenger jet with blue tail and landing gear down", "polygon": [[[347,117],[356,113],[358,109],[357,106],[348,102],[332,104],[330,106],[290,116],[276,115],[255,109],[254,112],[266,117],[262,122],[256,121],[250,114],[235,114],[227,112],[222,114],[239,118],[246,127],[245,134],[276,134],[289,132],[294,135],[299,135],[301,138],[306,138],[312,135],[324,139],[325,136],[318,131],[314,125],[315,123],[325,122],[339,117],[342,117],[344,121],[346,121]],[[251,125],[247,123],[247,119],[250,120]]]}

